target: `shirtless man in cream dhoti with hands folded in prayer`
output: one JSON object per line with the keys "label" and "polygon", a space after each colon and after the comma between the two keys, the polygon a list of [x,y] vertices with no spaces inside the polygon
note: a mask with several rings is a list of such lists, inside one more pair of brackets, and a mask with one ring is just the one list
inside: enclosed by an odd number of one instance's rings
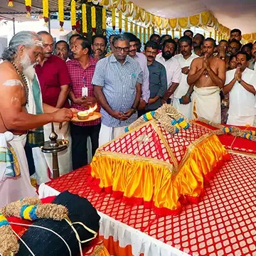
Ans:
{"label": "shirtless man in cream dhoti with hands folded in prayer", "polygon": [[215,40],[206,38],[203,42],[203,56],[191,63],[188,85],[194,90],[191,97],[192,118],[203,117],[220,123],[220,89],[225,82],[226,68],[224,60],[213,57],[214,48]]}

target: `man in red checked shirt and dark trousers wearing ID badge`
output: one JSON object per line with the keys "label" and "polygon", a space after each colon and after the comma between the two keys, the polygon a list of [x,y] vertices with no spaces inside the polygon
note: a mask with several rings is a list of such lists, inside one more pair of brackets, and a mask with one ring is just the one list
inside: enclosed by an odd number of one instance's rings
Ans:
{"label": "man in red checked shirt and dark trousers wearing ID badge", "polygon": [[[90,57],[91,44],[82,36],[73,43],[74,59],[68,61],[70,75],[70,100],[71,106],[78,110],[87,110],[95,105],[93,94],[92,76],[95,72],[97,60]],[[97,110],[100,111],[99,109]],[[78,169],[87,164],[87,137],[92,142],[92,156],[99,145],[100,119],[90,122],[73,122],[71,124],[73,169]]]}

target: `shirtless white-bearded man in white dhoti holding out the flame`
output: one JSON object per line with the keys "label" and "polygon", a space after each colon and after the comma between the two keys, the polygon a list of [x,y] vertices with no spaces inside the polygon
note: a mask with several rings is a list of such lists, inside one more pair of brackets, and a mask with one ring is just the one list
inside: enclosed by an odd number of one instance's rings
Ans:
{"label": "shirtless white-bearded man in white dhoti holding out the flame", "polygon": [[[4,50],[0,64],[0,208],[23,197],[36,196],[31,186],[28,163],[23,146],[26,131],[49,122],[69,121],[71,110],[52,114],[29,114],[26,72],[35,65],[41,53],[41,38],[35,33],[21,31]],[[28,107],[29,109],[29,107]]]}

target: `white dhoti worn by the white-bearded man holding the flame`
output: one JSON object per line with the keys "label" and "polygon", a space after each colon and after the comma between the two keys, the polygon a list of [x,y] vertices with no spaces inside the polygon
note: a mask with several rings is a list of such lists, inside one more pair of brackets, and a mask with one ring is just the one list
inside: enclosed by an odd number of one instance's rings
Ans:
{"label": "white dhoti worn by the white-bearded man holding the flame", "polygon": [[[6,133],[5,133],[6,134]],[[11,134],[9,132],[9,134]],[[3,144],[3,137],[1,135],[1,147],[5,147]],[[11,140],[9,140],[11,139]],[[4,177],[0,178],[0,208],[5,206],[7,203],[18,201],[25,197],[37,197],[36,188],[31,185],[28,162],[26,160],[26,154],[24,151],[24,146],[26,144],[26,135],[11,135],[11,137],[6,137],[6,141],[13,147],[19,169],[21,171],[20,176],[16,177]],[[0,163],[0,174],[3,174],[6,168],[6,163]]]}

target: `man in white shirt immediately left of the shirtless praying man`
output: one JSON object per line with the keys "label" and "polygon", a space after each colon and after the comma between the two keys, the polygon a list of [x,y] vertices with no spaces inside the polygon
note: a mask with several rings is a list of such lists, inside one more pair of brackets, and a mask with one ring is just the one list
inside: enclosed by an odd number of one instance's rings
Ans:
{"label": "man in white shirt immediately left of the shirtless praying man", "polygon": [[181,82],[174,92],[174,107],[191,119],[191,93],[189,92],[189,85],[187,82],[188,72],[191,67],[193,59],[198,58],[198,55],[192,53],[192,39],[189,36],[182,36],[178,41],[178,46],[181,53],[175,55],[174,58],[178,60],[181,65]]}

